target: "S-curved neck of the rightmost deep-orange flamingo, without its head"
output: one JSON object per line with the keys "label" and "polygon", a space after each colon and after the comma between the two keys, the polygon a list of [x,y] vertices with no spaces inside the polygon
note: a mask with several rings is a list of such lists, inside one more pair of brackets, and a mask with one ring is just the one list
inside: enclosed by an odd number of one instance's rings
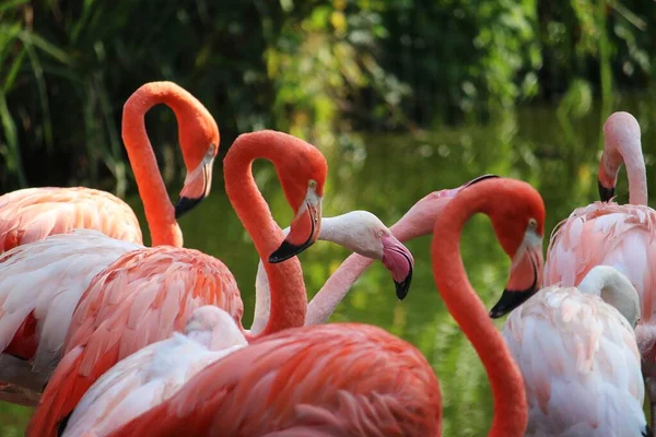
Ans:
{"label": "S-curved neck of the rightmost deep-orange flamingo, without its head", "polygon": [[[475,187],[469,188],[475,191]],[[465,200],[465,199],[462,199]],[[455,198],[435,223],[431,257],[435,285],[453,318],[481,358],[494,398],[494,417],[490,436],[524,436],[527,403],[522,374],[499,331],[492,324],[483,303],[467,279],[460,256],[462,226],[477,212],[485,212],[493,196]]]}

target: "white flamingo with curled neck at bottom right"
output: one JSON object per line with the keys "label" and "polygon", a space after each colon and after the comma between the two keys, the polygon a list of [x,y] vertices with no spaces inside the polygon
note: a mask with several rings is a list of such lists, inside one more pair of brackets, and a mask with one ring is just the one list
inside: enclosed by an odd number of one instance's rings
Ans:
{"label": "white flamingo with curled neck at bottom right", "polygon": [[522,370],[527,436],[653,436],[633,328],[637,292],[608,265],[578,287],[542,288],[508,316],[503,336]]}

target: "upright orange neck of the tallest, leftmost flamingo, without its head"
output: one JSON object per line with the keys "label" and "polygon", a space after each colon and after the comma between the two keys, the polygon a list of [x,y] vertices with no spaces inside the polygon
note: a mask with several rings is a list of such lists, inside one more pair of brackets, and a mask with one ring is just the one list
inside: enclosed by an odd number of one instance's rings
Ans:
{"label": "upright orange neck of the tallest, leftmost flamingo, without its head", "polygon": [[157,104],[165,104],[172,108],[178,125],[184,113],[189,110],[189,104],[179,87],[166,83],[144,85],[137,90],[124,106],[121,137],[143,202],[151,245],[183,247],[183,233],[175,220],[174,206],[145,132],[144,115]]}

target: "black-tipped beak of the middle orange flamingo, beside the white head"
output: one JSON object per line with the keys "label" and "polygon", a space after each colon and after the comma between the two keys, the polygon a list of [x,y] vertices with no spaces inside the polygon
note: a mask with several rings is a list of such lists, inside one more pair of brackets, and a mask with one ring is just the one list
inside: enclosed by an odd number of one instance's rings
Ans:
{"label": "black-tipped beak of the middle orange flamingo, beside the white head", "polygon": [[301,253],[317,240],[319,231],[321,231],[321,198],[314,189],[308,189],[305,200],[290,225],[290,233],[280,247],[269,256],[269,262],[282,262]]}

